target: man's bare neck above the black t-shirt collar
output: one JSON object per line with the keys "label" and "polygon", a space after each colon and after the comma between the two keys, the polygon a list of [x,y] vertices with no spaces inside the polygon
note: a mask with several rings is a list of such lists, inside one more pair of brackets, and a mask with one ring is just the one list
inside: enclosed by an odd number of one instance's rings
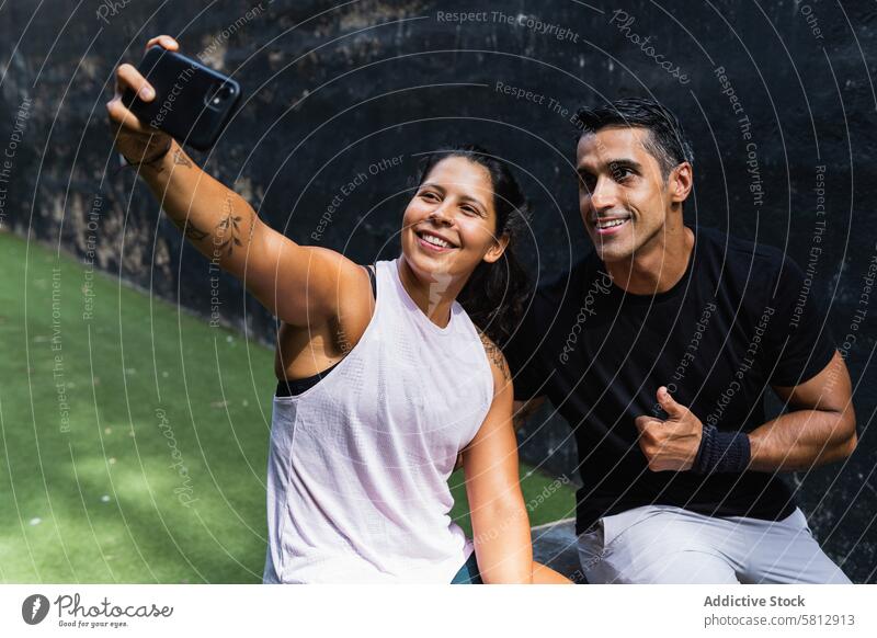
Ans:
{"label": "man's bare neck above the black t-shirt collar", "polygon": [[631,295],[657,295],[679,283],[688,267],[694,232],[683,225],[664,228],[650,244],[629,260],[605,263],[616,286]]}

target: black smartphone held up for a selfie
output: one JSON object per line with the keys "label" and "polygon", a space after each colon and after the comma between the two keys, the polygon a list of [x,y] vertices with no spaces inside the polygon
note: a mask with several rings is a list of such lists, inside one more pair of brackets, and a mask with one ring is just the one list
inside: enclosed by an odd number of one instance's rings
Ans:
{"label": "black smartphone held up for a selfie", "polygon": [[216,144],[240,102],[238,82],[161,46],[150,47],[137,70],[156,96],[144,102],[126,89],[124,104],[140,122],[198,150]]}

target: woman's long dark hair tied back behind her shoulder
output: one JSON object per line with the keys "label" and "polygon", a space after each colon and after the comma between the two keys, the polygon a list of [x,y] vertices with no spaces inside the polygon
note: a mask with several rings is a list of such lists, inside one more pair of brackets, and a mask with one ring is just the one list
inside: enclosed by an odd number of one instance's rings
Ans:
{"label": "woman's long dark hair tied back behind her shoulder", "polygon": [[527,224],[527,201],[509,164],[476,145],[460,145],[431,152],[420,163],[417,187],[440,161],[462,157],[482,166],[490,173],[493,209],[497,213],[494,236],[509,237],[502,257],[493,263],[481,262],[457,296],[472,322],[502,348],[517,329],[529,290],[529,277],[515,254],[519,236]]}

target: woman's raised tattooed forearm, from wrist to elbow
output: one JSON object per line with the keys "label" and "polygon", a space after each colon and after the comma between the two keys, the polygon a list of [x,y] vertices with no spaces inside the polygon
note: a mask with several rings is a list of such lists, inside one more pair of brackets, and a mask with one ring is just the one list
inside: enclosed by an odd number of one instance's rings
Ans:
{"label": "woman's raised tattooed forearm, from wrist to elbow", "polygon": [[160,161],[139,170],[168,218],[198,252],[234,274],[243,272],[259,224],[252,206],[197,167],[176,141]]}

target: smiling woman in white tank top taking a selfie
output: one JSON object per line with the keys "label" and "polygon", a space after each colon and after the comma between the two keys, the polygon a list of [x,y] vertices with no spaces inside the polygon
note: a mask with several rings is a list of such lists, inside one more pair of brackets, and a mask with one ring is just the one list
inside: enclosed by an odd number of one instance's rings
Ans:
{"label": "smiling woman in white tank top taking a selfie", "polygon": [[[365,267],[262,224],[125,109],[125,88],[153,98],[136,69],[116,78],[119,152],[193,246],[283,321],[264,582],[565,582],[532,559],[511,378],[488,337],[508,334],[522,292],[510,243],[524,198],[508,168],[475,148],[428,159],[402,254]],[[458,454],[471,543],[448,516]]]}

